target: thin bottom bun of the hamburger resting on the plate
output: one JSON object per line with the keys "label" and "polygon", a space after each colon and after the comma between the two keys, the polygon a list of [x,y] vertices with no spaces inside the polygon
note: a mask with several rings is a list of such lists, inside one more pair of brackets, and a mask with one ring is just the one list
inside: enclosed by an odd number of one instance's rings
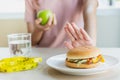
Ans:
{"label": "thin bottom bun of the hamburger resting on the plate", "polygon": [[71,63],[68,61],[65,61],[66,66],[70,68],[78,68],[78,69],[88,69],[88,68],[94,68],[97,67],[101,64],[101,62],[95,63],[95,64],[76,64],[76,63]]}

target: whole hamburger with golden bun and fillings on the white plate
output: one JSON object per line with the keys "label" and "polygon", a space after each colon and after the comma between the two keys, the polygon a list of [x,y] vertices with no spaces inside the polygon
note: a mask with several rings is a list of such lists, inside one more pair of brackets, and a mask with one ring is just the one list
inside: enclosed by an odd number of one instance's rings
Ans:
{"label": "whole hamburger with golden bun and fillings on the white plate", "polygon": [[93,46],[84,46],[70,49],[65,60],[66,66],[70,68],[94,68],[104,63],[100,49]]}

